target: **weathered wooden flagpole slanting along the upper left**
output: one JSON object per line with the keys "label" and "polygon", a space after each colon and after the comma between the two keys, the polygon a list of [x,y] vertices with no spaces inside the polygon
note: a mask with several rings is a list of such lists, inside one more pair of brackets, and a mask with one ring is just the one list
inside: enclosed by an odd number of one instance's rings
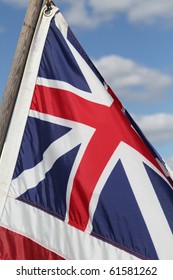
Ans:
{"label": "weathered wooden flagpole slanting along the upper left", "polygon": [[19,91],[27,56],[44,0],[30,0],[20,33],[12,67],[0,106],[0,154]]}

